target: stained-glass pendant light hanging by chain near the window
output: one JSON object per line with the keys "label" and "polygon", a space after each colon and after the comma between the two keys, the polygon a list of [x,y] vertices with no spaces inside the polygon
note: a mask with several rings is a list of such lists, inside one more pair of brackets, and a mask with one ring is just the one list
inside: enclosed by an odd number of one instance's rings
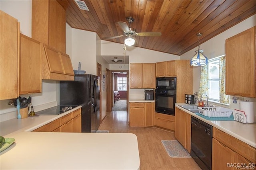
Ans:
{"label": "stained-glass pendant light hanging by chain near the window", "polygon": [[199,37],[201,37],[203,34],[202,33],[197,33],[196,34],[198,37],[198,50],[195,51],[196,54],[192,59],[190,60],[190,65],[192,66],[205,66],[208,64],[208,59],[203,55],[204,50],[200,50],[200,42],[199,42]]}

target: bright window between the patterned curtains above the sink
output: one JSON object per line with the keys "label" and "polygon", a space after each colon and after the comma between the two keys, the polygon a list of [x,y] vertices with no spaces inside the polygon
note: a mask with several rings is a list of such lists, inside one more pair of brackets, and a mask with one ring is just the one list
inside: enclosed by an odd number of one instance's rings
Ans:
{"label": "bright window between the patterned curtains above the sink", "polygon": [[220,58],[208,61],[208,97],[220,101]]}

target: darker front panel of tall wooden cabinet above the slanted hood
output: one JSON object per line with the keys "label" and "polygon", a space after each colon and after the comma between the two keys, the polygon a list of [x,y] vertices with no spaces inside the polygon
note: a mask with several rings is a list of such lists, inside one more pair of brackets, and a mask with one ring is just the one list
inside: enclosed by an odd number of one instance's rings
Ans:
{"label": "darker front panel of tall wooden cabinet above the slanted hood", "polygon": [[49,0],[49,45],[66,53],[66,11],[56,0]]}

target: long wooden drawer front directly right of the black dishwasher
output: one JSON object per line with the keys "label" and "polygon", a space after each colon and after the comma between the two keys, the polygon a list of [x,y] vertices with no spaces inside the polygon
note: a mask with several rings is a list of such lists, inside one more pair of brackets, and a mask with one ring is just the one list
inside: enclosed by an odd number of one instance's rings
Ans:
{"label": "long wooden drawer front directly right of the black dishwasher", "polygon": [[256,162],[256,149],[251,147],[250,145],[228,135],[227,133],[220,131],[217,128],[213,128],[213,137],[229,147],[230,149],[234,150],[238,154],[244,156],[244,158]]}

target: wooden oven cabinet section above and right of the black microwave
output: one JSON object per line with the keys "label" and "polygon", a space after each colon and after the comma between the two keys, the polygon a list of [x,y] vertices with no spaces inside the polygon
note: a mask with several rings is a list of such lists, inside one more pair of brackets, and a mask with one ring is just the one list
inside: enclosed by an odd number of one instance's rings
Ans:
{"label": "wooden oven cabinet section above and right of the black microwave", "polygon": [[156,63],[156,77],[176,77],[176,102],[184,103],[185,94],[193,93],[193,67],[189,60]]}

